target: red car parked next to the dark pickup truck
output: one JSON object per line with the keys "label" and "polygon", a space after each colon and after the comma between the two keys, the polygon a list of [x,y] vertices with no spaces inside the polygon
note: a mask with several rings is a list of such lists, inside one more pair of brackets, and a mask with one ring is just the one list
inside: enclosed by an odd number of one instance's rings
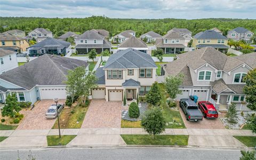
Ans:
{"label": "red car parked next to the dark pickup truck", "polygon": [[218,118],[218,111],[216,110],[216,108],[213,106],[212,103],[208,101],[199,101],[198,107],[202,111],[203,116],[205,118],[211,118],[211,119]]}

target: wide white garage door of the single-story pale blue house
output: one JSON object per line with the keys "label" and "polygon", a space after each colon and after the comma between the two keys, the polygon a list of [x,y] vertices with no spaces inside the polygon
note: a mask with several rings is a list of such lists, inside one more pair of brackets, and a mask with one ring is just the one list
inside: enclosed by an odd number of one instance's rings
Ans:
{"label": "wide white garage door of the single-story pale blue house", "polygon": [[66,99],[66,88],[42,88],[40,89],[41,99]]}

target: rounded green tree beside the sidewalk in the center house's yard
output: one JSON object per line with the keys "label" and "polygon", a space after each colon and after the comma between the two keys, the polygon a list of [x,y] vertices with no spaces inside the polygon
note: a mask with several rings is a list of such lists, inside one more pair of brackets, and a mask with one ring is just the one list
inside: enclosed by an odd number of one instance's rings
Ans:
{"label": "rounded green tree beside the sidewalk in the center house's yard", "polygon": [[154,138],[154,135],[163,133],[165,131],[165,121],[160,108],[153,107],[147,110],[141,119],[141,126],[148,134],[153,135],[152,138]]}

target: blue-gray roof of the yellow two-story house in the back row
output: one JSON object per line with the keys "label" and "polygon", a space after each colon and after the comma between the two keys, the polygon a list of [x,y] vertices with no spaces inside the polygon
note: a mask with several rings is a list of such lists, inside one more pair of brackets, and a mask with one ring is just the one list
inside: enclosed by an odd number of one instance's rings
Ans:
{"label": "blue-gray roof of the yellow two-story house in the back row", "polygon": [[194,36],[196,39],[228,39],[214,30],[201,31]]}

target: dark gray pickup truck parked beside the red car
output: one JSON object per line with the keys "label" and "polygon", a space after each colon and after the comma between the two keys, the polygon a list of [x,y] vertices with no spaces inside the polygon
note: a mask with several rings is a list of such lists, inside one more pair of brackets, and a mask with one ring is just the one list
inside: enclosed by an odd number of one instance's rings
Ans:
{"label": "dark gray pickup truck parked beside the red car", "polygon": [[187,121],[197,122],[203,120],[203,114],[194,101],[190,99],[180,99],[180,107],[183,110]]}

